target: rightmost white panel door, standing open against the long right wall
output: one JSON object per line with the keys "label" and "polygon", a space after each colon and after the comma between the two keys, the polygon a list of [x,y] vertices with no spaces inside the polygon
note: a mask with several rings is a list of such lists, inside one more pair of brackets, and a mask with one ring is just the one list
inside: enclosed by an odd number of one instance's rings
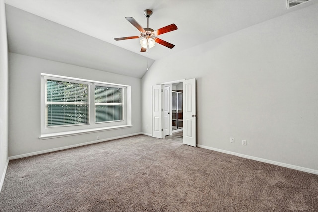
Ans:
{"label": "rightmost white panel door, standing open against the long right wall", "polygon": [[183,143],[197,146],[197,114],[195,79],[183,81]]}

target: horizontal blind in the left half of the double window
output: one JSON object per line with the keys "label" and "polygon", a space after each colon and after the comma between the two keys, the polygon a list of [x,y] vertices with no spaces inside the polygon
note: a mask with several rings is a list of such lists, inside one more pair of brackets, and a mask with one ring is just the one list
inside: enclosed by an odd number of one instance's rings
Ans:
{"label": "horizontal blind in the left half of the double window", "polygon": [[46,81],[46,126],[88,124],[88,85]]}

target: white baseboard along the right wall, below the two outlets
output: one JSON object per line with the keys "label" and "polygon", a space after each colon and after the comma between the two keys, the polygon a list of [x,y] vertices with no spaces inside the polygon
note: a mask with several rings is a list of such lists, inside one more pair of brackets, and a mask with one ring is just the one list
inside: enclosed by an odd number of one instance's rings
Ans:
{"label": "white baseboard along the right wall, below the two outlets", "polygon": [[231,152],[231,151],[227,151],[227,150],[223,150],[223,149],[217,149],[217,148],[204,146],[204,145],[198,145],[198,147],[318,175],[318,170],[315,170],[315,169],[309,169],[309,168],[305,168],[305,167],[301,167],[301,166],[295,166],[295,165],[291,165],[291,164],[287,164],[287,163],[281,163],[281,162],[277,162],[277,161],[267,160],[264,158],[258,158],[258,157],[254,157],[254,156],[244,155],[244,154]]}

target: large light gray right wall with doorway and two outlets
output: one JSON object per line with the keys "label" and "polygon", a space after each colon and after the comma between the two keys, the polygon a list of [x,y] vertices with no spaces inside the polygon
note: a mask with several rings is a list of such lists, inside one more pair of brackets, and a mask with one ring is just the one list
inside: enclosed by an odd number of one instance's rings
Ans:
{"label": "large light gray right wall with doorway and two outlets", "polygon": [[315,4],[155,61],[142,132],[151,86],[196,78],[199,145],[318,170],[317,14]]}

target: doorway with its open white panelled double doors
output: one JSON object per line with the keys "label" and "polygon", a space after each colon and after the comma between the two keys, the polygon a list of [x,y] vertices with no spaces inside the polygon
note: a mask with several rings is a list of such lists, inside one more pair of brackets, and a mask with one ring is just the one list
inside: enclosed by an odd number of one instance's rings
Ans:
{"label": "doorway with its open white panelled double doors", "polygon": [[[179,85],[180,89],[177,89],[177,85],[175,85],[175,89],[172,89],[172,84],[179,83],[182,83]],[[165,89],[166,87],[171,89]],[[172,118],[172,90],[175,90],[175,102],[177,103],[174,118]],[[178,130],[183,134],[184,144],[196,147],[196,79],[179,80],[152,86],[152,102],[152,137],[165,139],[165,136],[169,135],[168,132],[173,136],[173,131]],[[170,127],[167,127],[166,123]],[[172,130],[172,125],[174,125],[174,130]]]}

